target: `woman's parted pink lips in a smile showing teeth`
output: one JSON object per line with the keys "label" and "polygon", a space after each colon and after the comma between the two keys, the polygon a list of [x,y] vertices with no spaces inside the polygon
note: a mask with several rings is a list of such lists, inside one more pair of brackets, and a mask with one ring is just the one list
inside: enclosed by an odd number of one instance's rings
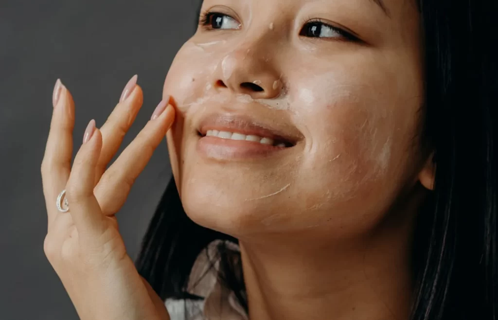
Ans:
{"label": "woman's parted pink lips in a smile showing teeth", "polygon": [[213,113],[197,125],[198,151],[209,158],[234,160],[268,156],[295,146],[301,133],[284,119],[256,119],[248,114]]}

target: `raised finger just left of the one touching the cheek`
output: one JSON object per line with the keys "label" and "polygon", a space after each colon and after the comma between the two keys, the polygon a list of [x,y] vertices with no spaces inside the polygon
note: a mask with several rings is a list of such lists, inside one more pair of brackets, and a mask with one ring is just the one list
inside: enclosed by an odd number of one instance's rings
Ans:
{"label": "raised finger just left of the one touching the cheek", "polygon": [[134,75],[126,84],[120,103],[114,108],[106,123],[100,128],[102,132],[102,151],[97,162],[95,183],[100,180],[106,167],[112,160],[123,142],[124,135],[135,120],[143,103],[143,93],[136,85],[137,76]]}

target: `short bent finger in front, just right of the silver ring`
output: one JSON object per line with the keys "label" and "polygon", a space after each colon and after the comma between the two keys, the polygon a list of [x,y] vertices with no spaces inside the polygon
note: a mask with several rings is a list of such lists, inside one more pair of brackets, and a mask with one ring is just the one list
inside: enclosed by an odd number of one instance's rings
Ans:
{"label": "short bent finger in front, just right of the silver ring", "polygon": [[90,121],[83,137],[67,182],[66,197],[78,233],[91,238],[100,236],[106,227],[94,196],[95,171],[102,148],[102,134],[95,128],[95,120]]}

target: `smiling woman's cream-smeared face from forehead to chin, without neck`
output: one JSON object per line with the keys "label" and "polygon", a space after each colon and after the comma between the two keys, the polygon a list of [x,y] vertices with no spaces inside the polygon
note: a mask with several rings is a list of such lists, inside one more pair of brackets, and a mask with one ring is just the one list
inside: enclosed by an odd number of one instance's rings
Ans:
{"label": "smiling woman's cream-smeared face from forehead to chin, without neck", "polygon": [[202,12],[164,84],[186,213],[240,238],[371,229],[424,160],[415,4],[205,0]]}

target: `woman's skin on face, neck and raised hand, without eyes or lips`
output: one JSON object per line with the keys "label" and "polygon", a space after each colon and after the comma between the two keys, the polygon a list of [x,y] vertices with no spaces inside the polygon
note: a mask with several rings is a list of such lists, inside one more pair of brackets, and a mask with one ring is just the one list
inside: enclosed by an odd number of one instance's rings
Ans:
{"label": "woman's skin on face, neck and raised hand, without eyes or lips", "polygon": [[[415,7],[385,0],[389,17],[367,0],[206,0],[203,9],[215,6],[241,27],[199,29],[182,47],[163,108],[107,170],[142,105],[140,87],[128,84],[106,123],[90,126],[73,166],[75,105],[64,85],[54,88],[41,164],[44,251],[78,315],[169,319],[115,217],[168,132],[186,213],[240,239],[251,319],[407,319],[412,221],[433,182],[417,138]],[[300,37],[308,17],[363,42]],[[264,157],[201,152],[197,125],[213,112],[265,119],[296,144]],[[68,213],[54,206],[63,189]]]}

